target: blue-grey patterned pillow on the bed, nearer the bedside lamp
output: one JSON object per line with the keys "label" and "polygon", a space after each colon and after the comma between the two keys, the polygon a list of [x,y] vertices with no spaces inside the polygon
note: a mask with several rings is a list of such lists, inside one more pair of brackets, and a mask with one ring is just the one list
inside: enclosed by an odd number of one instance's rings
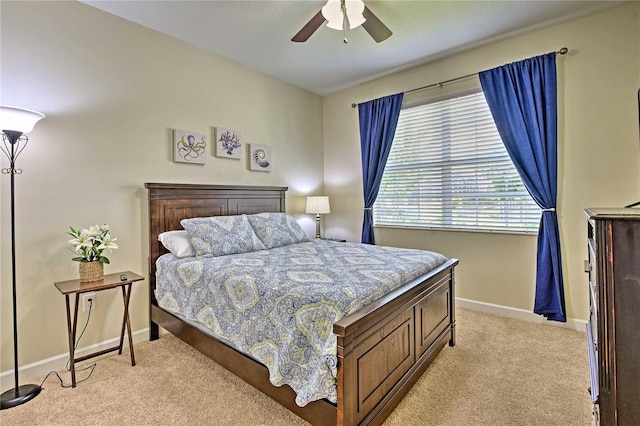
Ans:
{"label": "blue-grey patterned pillow on the bed, nearer the bedside lamp", "polygon": [[298,222],[287,213],[259,213],[247,218],[268,249],[309,241]]}

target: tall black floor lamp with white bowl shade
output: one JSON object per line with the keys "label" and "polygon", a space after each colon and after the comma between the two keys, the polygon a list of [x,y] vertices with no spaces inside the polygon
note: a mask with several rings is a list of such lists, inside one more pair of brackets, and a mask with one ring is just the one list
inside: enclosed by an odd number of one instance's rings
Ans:
{"label": "tall black floor lamp with white bowl shade", "polygon": [[0,105],[0,129],[2,145],[0,149],[9,159],[9,167],[2,169],[2,174],[11,176],[11,274],[13,277],[13,373],[15,387],[1,395],[0,409],[15,407],[32,400],[42,390],[38,385],[20,386],[18,381],[18,315],[16,312],[16,232],[15,232],[15,197],[14,178],[22,173],[16,169],[16,158],[27,146],[29,138],[25,133],[33,130],[33,126],[44,118],[44,114],[28,109]]}

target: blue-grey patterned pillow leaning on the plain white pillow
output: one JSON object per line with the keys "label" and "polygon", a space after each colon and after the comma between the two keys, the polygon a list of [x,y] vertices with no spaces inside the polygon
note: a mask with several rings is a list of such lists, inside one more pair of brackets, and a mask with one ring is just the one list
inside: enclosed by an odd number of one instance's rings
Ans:
{"label": "blue-grey patterned pillow leaning on the plain white pillow", "polygon": [[183,219],[180,224],[189,233],[197,256],[224,256],[265,249],[244,214]]}

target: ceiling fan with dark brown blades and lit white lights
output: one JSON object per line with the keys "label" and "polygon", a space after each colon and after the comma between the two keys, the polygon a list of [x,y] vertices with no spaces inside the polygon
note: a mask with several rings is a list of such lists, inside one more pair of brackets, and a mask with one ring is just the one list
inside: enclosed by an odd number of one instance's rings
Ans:
{"label": "ceiling fan with dark brown blades and lit white lights", "polygon": [[[329,21],[327,24],[329,28],[336,30],[346,28],[344,24],[347,21],[349,22],[350,29],[362,25],[377,43],[388,39],[391,34],[393,34],[391,30],[364,5],[362,0],[328,0],[327,4],[293,36],[291,41],[298,43],[307,41],[325,21]],[[344,38],[344,42],[347,43],[346,37]]]}

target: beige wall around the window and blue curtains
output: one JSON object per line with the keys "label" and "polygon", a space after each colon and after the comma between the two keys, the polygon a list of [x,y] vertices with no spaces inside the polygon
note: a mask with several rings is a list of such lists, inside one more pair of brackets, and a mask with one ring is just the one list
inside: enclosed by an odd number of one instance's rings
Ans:
{"label": "beige wall around the window and blue curtains", "polygon": [[[585,320],[588,293],[585,216],[588,206],[640,200],[637,91],[640,87],[640,3],[497,42],[399,72],[323,98],[325,191],[332,212],[327,235],[359,240],[362,177],[357,109],[364,102],[505,63],[569,48],[558,56],[558,214],[567,314]],[[531,310],[536,237],[375,230],[378,244],[441,251],[460,259],[458,297]]]}

